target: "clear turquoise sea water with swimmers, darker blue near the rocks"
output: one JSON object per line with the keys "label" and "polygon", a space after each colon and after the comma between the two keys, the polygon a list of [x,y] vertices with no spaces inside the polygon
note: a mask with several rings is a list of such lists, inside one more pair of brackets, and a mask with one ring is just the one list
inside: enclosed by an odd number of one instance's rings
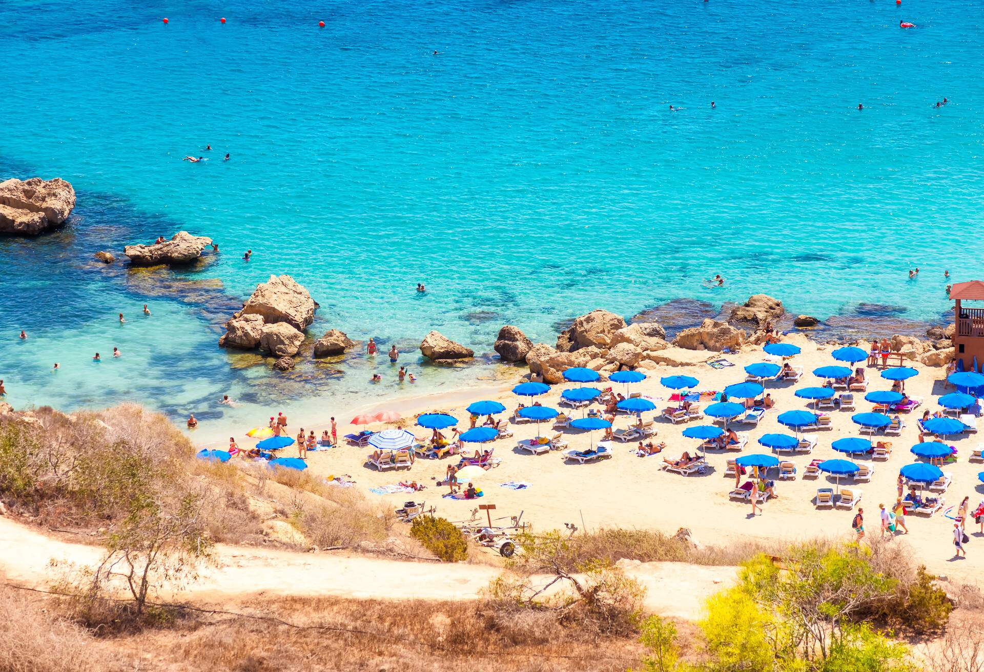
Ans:
{"label": "clear turquoise sea water with swimmers, darker blue near the rocks", "polygon": [[[980,275],[977,2],[287,4],[0,3],[0,178],[79,196],[61,231],[0,239],[11,401],[211,419],[223,393],[363,393],[371,362],[274,377],[215,345],[274,273],[321,303],[319,333],[412,346],[438,329],[479,352],[505,323],[552,341],[596,307],[759,291],[820,317],[875,301],[930,320],[944,270]],[[92,264],[179,229],[217,259]],[[715,273],[724,288],[704,286]],[[475,374],[408,360],[421,389]],[[378,366],[373,392],[398,391]]]}

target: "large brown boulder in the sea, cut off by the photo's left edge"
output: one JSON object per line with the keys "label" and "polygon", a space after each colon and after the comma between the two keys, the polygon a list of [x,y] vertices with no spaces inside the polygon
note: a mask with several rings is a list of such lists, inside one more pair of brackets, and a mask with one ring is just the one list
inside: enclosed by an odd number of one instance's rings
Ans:
{"label": "large brown boulder in the sea, cut off by the photo's left edge", "polygon": [[68,219],[75,208],[75,189],[56,177],[0,182],[0,232],[36,235]]}

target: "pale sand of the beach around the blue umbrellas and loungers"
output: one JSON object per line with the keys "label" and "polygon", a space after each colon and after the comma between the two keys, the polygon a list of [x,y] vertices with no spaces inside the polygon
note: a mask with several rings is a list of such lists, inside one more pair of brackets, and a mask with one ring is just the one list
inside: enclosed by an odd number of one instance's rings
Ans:
{"label": "pale sand of the beach around the blue umbrellas and loungers", "polygon": [[[809,408],[807,400],[794,396],[794,391],[800,388],[819,386],[822,380],[812,375],[812,370],[823,365],[834,364],[830,350],[835,346],[818,344],[805,336],[789,336],[789,342],[794,342],[803,348],[801,354],[791,362],[802,367],[805,374],[799,383],[769,382],[767,392],[775,400],[775,406],[770,409],[758,427],[736,426],[740,432],[749,437],[749,446],[743,454],[770,453],[769,449],[760,446],[759,437],[770,432],[790,433],[776,421],[776,416],[789,409]],[[698,353],[695,353],[698,354]],[[760,361],[769,360],[760,347],[749,346],[737,354],[706,352],[707,359],[724,358],[733,363],[733,367],[715,369],[707,363],[699,363],[687,367],[659,366],[646,370],[646,381],[631,386],[632,392],[640,392],[652,397],[657,404],[657,411],[644,414],[644,419],[658,415],[658,408],[667,405],[672,391],[659,384],[659,378],[666,375],[686,374],[698,378],[700,390],[719,391],[726,385],[743,381],[743,367]],[[863,492],[861,508],[865,511],[866,529],[869,534],[879,534],[878,505],[891,506],[895,501],[895,478],[899,467],[916,461],[909,453],[912,445],[918,441],[916,420],[922,411],[929,408],[936,411],[940,408],[936,397],[944,394],[944,368],[925,367],[918,363],[908,362],[918,369],[919,375],[906,382],[905,390],[910,397],[922,397],[923,403],[909,414],[903,414],[905,428],[899,437],[889,437],[892,442],[892,456],[888,460],[871,460],[857,458],[859,463],[874,466],[874,475],[869,483],[860,483],[858,487]],[[426,411],[443,411],[460,418],[459,427],[465,429],[468,416],[465,406],[482,398],[494,398],[502,401],[507,407],[507,414],[516,408],[520,397],[511,394],[512,384],[521,381],[522,368],[506,369],[509,381],[501,387],[481,390],[460,391],[454,394],[434,397],[405,399],[391,404],[381,404],[375,407],[356,409],[357,412],[375,412],[386,408],[398,410],[403,417],[397,426],[405,426],[414,431],[418,438],[424,439],[430,431],[413,426],[414,414]],[[869,380],[868,391],[888,390],[891,382],[881,378],[878,369],[869,367],[866,371]],[[598,384],[608,387],[609,384]],[[548,395],[537,397],[544,405],[557,406],[560,393],[573,385],[557,385]],[[624,385],[614,385],[616,391],[624,392]],[[952,392],[953,388],[947,390]],[[500,439],[486,447],[493,447],[495,455],[501,458],[501,464],[486,471],[475,481],[484,490],[480,500],[461,501],[442,497],[448,492],[447,487],[436,485],[444,475],[451,460],[417,459],[409,470],[376,471],[367,467],[366,457],[371,450],[357,448],[342,442],[338,448],[309,453],[309,473],[328,477],[330,475],[348,474],[356,481],[356,487],[374,500],[391,503],[399,507],[405,500],[426,501],[428,505],[437,507],[440,516],[453,520],[468,519],[478,504],[494,504],[497,516],[516,516],[523,512],[523,520],[532,523],[534,529],[550,529],[562,527],[570,522],[579,527],[639,527],[654,528],[666,532],[674,532],[679,527],[688,527],[694,538],[700,543],[726,544],[728,542],[758,539],[795,540],[817,536],[844,536],[850,538],[851,519],[854,511],[845,509],[817,510],[813,498],[819,487],[834,487],[833,477],[826,475],[818,479],[802,477],[805,466],[815,458],[847,458],[830,448],[830,443],[838,438],[860,436],[859,427],[851,421],[854,412],[871,410],[873,404],[864,401],[863,394],[855,394],[856,410],[835,410],[831,412],[832,428],[830,430],[815,430],[810,432],[817,439],[817,448],[811,455],[783,457],[796,464],[797,476],[794,480],[777,481],[775,492],[777,498],[769,500],[765,505],[763,515],[751,517],[750,505],[734,502],[728,498],[728,492],[734,487],[733,477],[724,477],[725,461],[735,458],[735,452],[727,454],[711,452],[707,455],[710,468],[704,474],[681,476],[660,469],[662,457],[679,458],[684,451],[694,453],[699,442],[687,439],[682,432],[689,424],[672,424],[658,418],[655,426],[656,442],[665,442],[667,448],[659,456],[639,458],[633,454],[636,444],[614,442],[614,457],[595,463],[578,464],[565,463],[559,453],[549,453],[540,456],[523,454],[516,450],[516,442],[537,434],[534,423],[511,425],[515,433],[512,439]],[[661,402],[665,401],[665,402]],[[527,401],[528,402],[528,401]],[[581,415],[582,411],[575,411]],[[337,416],[338,417],[338,416]],[[338,417],[339,438],[343,434],[361,428],[348,424],[351,416]],[[258,419],[259,420],[259,419]],[[705,422],[709,423],[710,418]],[[615,427],[627,427],[630,419],[619,415]],[[369,425],[373,431],[393,425]],[[323,425],[316,423],[313,428],[320,435]],[[298,426],[291,424],[291,436]],[[305,426],[305,429],[310,429]],[[549,423],[540,425],[541,434],[552,434]],[[577,430],[564,431],[564,438],[572,448],[586,449],[591,440],[596,442],[601,438],[601,432],[589,435]],[[981,499],[984,490],[977,479],[980,470],[974,463],[968,463],[971,450],[976,447],[978,440],[975,435],[964,434],[953,437],[952,441],[959,451],[959,461],[944,468],[952,473],[953,483],[945,494],[947,508],[955,507],[964,496],[970,497],[970,508],[973,510]],[[473,451],[473,448],[471,449]],[[296,456],[296,449],[290,447],[281,452],[283,456]],[[370,488],[392,485],[399,481],[414,480],[426,485],[426,489],[415,494],[377,495],[369,492]],[[511,490],[502,487],[502,483],[523,481],[528,487],[522,490]],[[841,486],[850,486],[850,479],[842,478]],[[955,511],[955,508],[954,508]],[[984,539],[984,535],[974,533],[977,526],[970,524],[971,533],[968,559],[952,561],[953,546],[951,534],[953,520],[945,516],[946,512],[937,514],[932,519],[909,515],[907,517],[910,533],[899,535],[900,543],[908,543],[914,553],[934,573],[948,575],[961,580],[972,580],[973,575],[982,566],[980,556],[974,553],[974,541]],[[953,515],[953,512],[950,512]]]}

